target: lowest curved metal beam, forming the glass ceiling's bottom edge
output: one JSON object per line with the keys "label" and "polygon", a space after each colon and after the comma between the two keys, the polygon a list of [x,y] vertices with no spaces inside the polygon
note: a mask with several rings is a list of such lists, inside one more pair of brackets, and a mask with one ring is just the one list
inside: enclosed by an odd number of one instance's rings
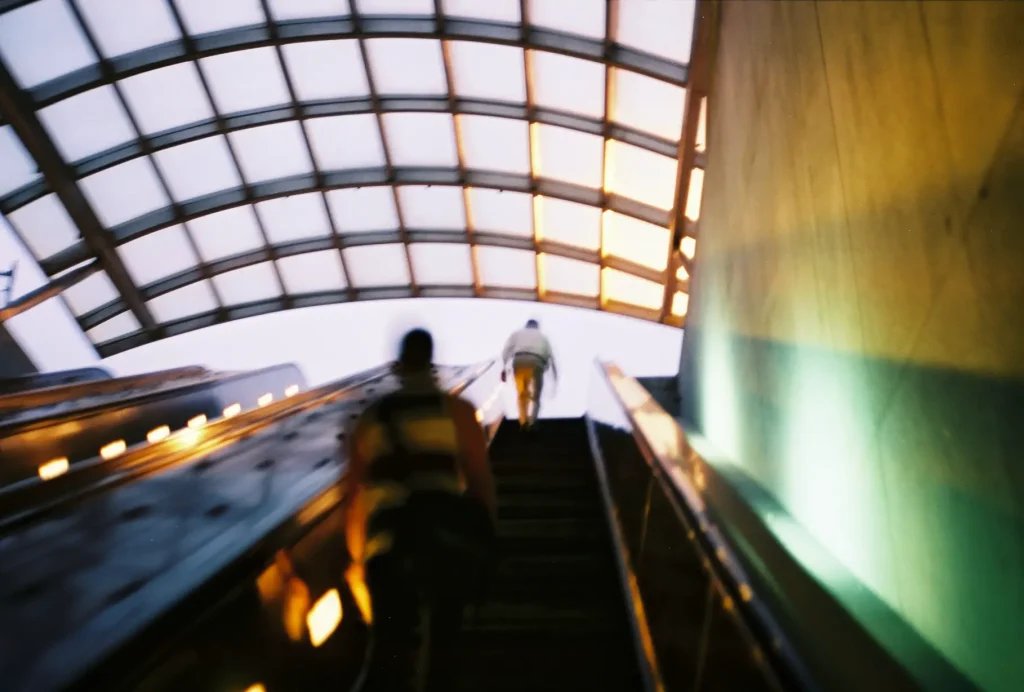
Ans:
{"label": "lowest curved metal beam, forming the glass ceiling's bottom edge", "polygon": [[[565,305],[568,307],[581,307],[600,310],[603,312],[612,312],[614,314],[622,314],[648,321],[657,321],[658,316],[656,310],[645,310],[643,308],[625,305],[614,301],[609,301],[607,305],[602,307],[599,305],[599,300],[596,296],[573,296],[548,291],[545,293],[543,299],[538,300],[537,291],[534,289],[484,288],[480,297],[496,300],[522,300],[550,303],[554,305]],[[100,357],[106,358],[133,348],[138,348],[139,346],[144,346],[145,344],[160,341],[161,339],[166,339],[168,337],[175,337],[187,332],[206,329],[207,327],[212,327],[214,325],[223,325],[225,322],[234,321],[236,319],[255,317],[257,315],[268,314],[270,312],[280,312],[282,310],[292,310],[303,307],[315,307],[319,305],[336,305],[339,303],[369,300],[394,300],[400,298],[413,298],[413,293],[410,287],[365,289],[356,291],[354,299],[349,298],[347,291],[330,291],[326,293],[305,294],[301,296],[292,296],[290,299],[286,299],[282,296],[280,298],[272,298],[270,300],[263,300],[245,305],[236,305],[224,310],[204,312],[202,314],[178,319],[162,326],[162,329],[155,334],[143,332],[129,334],[119,339],[113,339],[99,344],[96,346],[96,350],[99,352]],[[473,298],[473,287],[423,286],[420,287],[419,298]]]}

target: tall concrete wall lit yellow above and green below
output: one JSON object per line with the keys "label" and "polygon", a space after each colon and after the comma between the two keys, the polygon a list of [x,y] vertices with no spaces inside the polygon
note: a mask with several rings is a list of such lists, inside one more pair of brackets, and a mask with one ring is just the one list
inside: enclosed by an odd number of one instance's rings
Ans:
{"label": "tall concrete wall lit yellow above and green below", "polygon": [[1024,689],[1024,3],[721,9],[685,415]]}

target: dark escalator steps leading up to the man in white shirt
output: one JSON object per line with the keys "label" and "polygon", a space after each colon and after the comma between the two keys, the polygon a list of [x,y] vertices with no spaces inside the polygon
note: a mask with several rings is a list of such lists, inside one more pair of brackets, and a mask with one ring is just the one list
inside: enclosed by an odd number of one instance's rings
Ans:
{"label": "dark escalator steps leading up to the man in white shirt", "polygon": [[643,689],[584,421],[505,422],[492,464],[501,557],[459,689]]}

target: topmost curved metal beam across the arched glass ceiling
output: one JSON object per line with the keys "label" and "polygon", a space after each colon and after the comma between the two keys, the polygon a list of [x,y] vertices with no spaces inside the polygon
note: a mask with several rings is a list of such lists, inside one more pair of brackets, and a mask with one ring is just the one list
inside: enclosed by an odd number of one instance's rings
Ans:
{"label": "topmost curved metal beam across the arched glass ceiling", "polygon": [[[240,27],[211,34],[198,34],[112,58],[113,76],[103,76],[98,64],[82,68],[30,90],[37,107],[44,107],[75,94],[150,70],[248,48],[304,41],[340,39],[421,38],[445,41],[476,41],[547,50],[637,72],[676,86],[686,86],[687,66],[673,62],[618,43],[610,44],[541,27],[462,19],[446,16],[443,33],[434,15],[339,16]],[[190,45],[188,45],[190,44]]]}

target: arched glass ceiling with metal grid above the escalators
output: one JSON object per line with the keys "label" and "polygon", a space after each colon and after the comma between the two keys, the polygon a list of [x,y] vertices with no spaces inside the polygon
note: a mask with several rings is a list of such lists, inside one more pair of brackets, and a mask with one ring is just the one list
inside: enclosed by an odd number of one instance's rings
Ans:
{"label": "arched glass ceiling with metal grid above the escalators", "polygon": [[686,0],[0,0],[0,212],[51,279],[95,269],[63,299],[104,356],[396,297],[681,323],[693,26]]}

